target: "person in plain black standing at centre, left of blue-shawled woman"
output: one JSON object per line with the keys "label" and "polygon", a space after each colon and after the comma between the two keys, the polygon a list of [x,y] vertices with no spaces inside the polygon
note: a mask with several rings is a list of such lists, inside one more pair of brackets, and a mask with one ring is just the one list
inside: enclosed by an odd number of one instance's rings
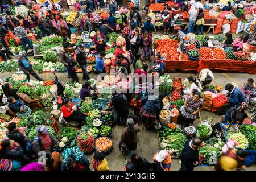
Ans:
{"label": "person in plain black standing at centre, left of blue-shawled woman", "polygon": [[127,98],[123,93],[118,94],[117,90],[112,89],[112,98],[110,98],[110,105],[114,107],[115,122],[117,125],[121,125],[122,122],[126,122],[128,116]]}

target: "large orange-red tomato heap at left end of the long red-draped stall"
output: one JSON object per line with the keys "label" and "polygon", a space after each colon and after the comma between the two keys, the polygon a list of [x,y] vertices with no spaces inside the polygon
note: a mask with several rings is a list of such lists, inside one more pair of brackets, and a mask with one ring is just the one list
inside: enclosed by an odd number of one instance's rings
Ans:
{"label": "large orange-red tomato heap at left end of the long red-draped stall", "polygon": [[161,55],[166,53],[167,61],[179,60],[179,53],[177,52],[178,43],[179,40],[174,39],[155,40],[156,52],[160,52]]}

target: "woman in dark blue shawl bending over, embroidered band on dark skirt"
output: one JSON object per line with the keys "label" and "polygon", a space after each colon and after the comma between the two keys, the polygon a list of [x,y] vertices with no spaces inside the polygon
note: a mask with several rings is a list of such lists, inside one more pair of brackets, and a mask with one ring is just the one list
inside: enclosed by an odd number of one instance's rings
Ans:
{"label": "woman in dark blue shawl bending over, embroidered band on dark skirt", "polygon": [[141,100],[142,108],[139,113],[139,121],[144,123],[144,129],[149,130],[154,128],[155,119],[159,117],[160,110],[160,99],[153,93],[145,96]]}

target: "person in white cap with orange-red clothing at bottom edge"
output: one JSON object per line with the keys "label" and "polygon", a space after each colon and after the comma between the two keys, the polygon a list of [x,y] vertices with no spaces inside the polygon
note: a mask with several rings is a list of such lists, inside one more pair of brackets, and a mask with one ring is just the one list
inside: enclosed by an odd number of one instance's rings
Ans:
{"label": "person in white cap with orange-red clothing at bottom edge", "polygon": [[159,150],[153,156],[155,171],[170,171],[171,169],[171,155],[166,150]]}

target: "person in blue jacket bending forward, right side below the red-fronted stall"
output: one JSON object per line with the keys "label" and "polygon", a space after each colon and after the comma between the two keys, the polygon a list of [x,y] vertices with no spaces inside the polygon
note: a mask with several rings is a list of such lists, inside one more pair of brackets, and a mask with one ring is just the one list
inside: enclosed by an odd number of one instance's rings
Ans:
{"label": "person in blue jacket bending forward, right side below the red-fronted stall", "polygon": [[226,110],[228,110],[230,107],[235,105],[241,105],[242,102],[245,102],[245,96],[236,86],[228,83],[225,86],[225,90],[229,91],[229,93],[227,94],[228,102],[221,106],[215,115],[224,115],[226,113]]}

